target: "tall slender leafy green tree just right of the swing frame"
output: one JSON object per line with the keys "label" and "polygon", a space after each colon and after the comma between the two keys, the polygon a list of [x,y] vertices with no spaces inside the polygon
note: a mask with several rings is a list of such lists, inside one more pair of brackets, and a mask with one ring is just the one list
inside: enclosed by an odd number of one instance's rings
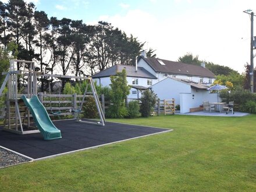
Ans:
{"label": "tall slender leafy green tree just right of the swing frame", "polygon": [[126,70],[118,72],[116,76],[111,76],[110,100],[113,105],[110,106],[107,116],[111,118],[124,118],[127,116],[125,107],[125,98],[130,93],[130,87],[127,85]]}

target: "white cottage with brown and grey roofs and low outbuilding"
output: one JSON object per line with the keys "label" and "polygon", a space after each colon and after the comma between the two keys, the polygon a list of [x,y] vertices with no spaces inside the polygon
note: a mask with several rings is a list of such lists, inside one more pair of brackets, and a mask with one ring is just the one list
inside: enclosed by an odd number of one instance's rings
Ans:
{"label": "white cottage with brown and grey roofs and low outbuilding", "polygon": [[126,69],[128,84],[132,87],[128,98],[140,98],[141,91],[151,88],[160,99],[175,98],[181,112],[189,112],[203,101],[214,102],[217,97],[207,88],[215,80],[215,74],[202,66],[147,58],[145,52],[138,57],[136,66],[115,65],[93,75],[97,84],[109,86],[110,76]]}

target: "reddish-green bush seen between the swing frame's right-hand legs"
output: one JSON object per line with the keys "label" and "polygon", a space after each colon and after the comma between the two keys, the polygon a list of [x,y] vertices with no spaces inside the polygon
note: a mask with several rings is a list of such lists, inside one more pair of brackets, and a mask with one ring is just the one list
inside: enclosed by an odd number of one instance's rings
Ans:
{"label": "reddish-green bush seen between the swing frame's right-hand legs", "polygon": [[98,117],[98,109],[93,96],[87,97],[86,103],[83,105],[83,115],[84,118],[88,119],[94,119]]}

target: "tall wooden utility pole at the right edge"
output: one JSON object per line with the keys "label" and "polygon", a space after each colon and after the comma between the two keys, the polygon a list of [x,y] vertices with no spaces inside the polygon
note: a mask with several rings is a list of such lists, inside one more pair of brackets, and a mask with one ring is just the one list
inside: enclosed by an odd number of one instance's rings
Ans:
{"label": "tall wooden utility pole at the right edge", "polygon": [[254,44],[253,44],[253,17],[254,12],[250,9],[248,10],[244,10],[244,13],[247,13],[250,15],[250,19],[251,19],[251,45],[250,45],[250,52],[251,52],[251,56],[250,56],[250,87],[251,87],[251,93],[254,93],[254,64],[253,64],[253,49],[254,49]]}

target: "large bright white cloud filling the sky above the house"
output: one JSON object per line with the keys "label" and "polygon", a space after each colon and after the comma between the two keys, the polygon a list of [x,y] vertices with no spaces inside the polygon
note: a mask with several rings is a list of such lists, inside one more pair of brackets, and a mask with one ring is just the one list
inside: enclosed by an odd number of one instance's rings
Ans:
{"label": "large bright white cloud filling the sky above the house", "polygon": [[191,52],[201,60],[241,73],[244,64],[250,63],[250,19],[243,10],[250,8],[253,0],[246,2],[228,3],[218,9],[190,9],[175,15],[170,12],[162,19],[140,9],[100,18],[146,42],[144,49],[157,49],[159,58],[177,61]]}

